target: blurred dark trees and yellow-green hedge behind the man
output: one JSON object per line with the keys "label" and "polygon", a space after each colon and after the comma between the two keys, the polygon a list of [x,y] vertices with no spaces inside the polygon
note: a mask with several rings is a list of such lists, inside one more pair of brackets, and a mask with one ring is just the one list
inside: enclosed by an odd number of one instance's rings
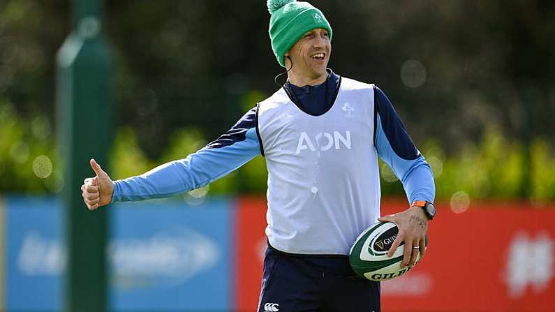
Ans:
{"label": "blurred dark trees and yellow-green hedge behind the man", "polygon": [[[334,29],[330,68],[392,99],[434,169],[438,198],[555,199],[553,1],[311,2]],[[0,0],[0,193],[64,185],[54,58],[70,9]],[[114,179],[185,157],[279,88],[268,21],[262,0],[106,1]],[[381,169],[383,193],[403,194]],[[257,157],[203,191],[264,193],[266,178]]]}

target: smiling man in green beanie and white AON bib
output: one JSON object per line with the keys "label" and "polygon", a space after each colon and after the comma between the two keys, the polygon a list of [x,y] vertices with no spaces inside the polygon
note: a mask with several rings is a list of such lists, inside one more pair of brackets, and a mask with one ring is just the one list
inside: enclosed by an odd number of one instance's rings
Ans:
{"label": "smiling man in green beanie and white AON bib", "polygon": [[262,154],[268,210],[258,311],[380,311],[379,283],[355,277],[350,246],[378,219],[378,158],[403,183],[410,208],[379,218],[399,225],[404,266],[424,255],[435,212],[434,179],[392,104],[372,84],[327,69],[332,28],[307,2],[269,0],[269,36],[288,82],[228,133],[179,161],[113,181],[91,160],[84,181],[89,209],[170,196],[209,184]]}

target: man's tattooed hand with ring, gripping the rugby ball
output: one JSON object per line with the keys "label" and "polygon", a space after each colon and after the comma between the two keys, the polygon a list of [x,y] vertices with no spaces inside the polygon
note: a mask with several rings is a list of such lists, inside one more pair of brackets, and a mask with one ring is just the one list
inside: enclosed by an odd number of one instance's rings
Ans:
{"label": "man's tattooed hand with ring, gripping the rugby ball", "polygon": [[394,240],[387,256],[391,257],[401,242],[405,242],[403,262],[401,268],[413,267],[418,253],[424,257],[426,251],[425,237],[428,230],[428,218],[422,207],[413,206],[403,212],[378,218],[378,221],[392,222],[399,228],[399,234]]}

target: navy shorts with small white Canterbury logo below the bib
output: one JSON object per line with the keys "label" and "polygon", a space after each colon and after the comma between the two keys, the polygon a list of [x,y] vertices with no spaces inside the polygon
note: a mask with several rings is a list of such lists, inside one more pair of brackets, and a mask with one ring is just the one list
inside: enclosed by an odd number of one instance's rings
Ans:
{"label": "navy shorts with small white Canterbury logo below the bib", "polygon": [[346,255],[295,255],[268,245],[258,312],[379,312],[380,283],[355,275]]}

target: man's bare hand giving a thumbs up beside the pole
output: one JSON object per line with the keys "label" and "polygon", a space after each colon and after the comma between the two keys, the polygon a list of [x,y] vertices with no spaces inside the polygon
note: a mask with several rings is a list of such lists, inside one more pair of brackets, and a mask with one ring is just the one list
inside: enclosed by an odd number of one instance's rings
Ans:
{"label": "man's bare hand giving a thumbs up beside the pole", "polygon": [[87,208],[94,210],[112,202],[114,182],[94,159],[91,159],[91,168],[96,177],[84,179],[81,191]]}

